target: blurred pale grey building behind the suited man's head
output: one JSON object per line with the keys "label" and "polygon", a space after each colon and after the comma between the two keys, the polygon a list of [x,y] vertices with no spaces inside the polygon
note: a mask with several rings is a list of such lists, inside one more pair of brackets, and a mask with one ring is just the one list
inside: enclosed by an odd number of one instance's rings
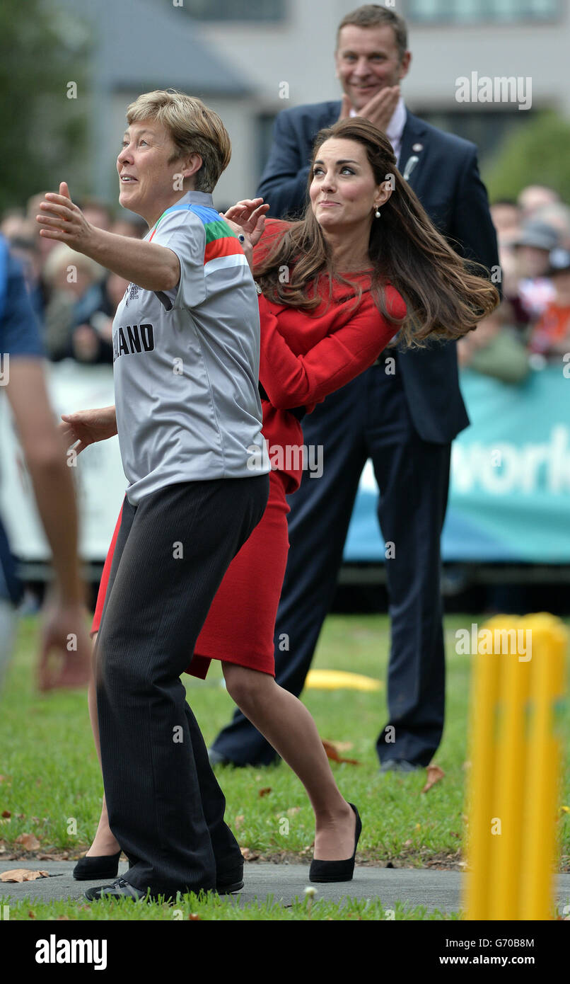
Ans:
{"label": "blurred pale grey building behind the suited man's head", "polygon": [[[216,191],[220,208],[254,194],[277,112],[340,97],[336,28],[358,6],[346,0],[59,2],[85,19],[91,37],[91,193],[115,199],[114,159],[127,104],[140,92],[174,87],[202,97],[230,133],[232,162]],[[484,161],[537,111],[570,118],[567,0],[385,0],[385,6],[409,25],[413,61],[403,92],[410,109],[474,140]],[[462,77],[472,95],[483,79],[522,80],[530,107],[519,108],[505,88],[490,102],[460,102]]]}

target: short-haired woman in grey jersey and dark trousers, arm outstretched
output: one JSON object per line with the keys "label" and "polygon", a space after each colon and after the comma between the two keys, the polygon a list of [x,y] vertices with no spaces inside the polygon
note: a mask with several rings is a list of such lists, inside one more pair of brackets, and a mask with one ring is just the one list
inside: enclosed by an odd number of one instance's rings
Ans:
{"label": "short-haired woman in grey jersey and dark trousers, arm outstretched", "polygon": [[120,202],[145,219],[145,239],[90,225],[65,183],[37,216],[40,235],[130,281],[113,324],[116,424],[114,407],[101,411],[129,486],[94,665],[109,824],[131,868],[90,898],[241,878],[180,674],[268,495],[268,466],[251,466],[263,447],[256,287],[211,199],[228,135],[179,92],[140,96],[127,120]]}

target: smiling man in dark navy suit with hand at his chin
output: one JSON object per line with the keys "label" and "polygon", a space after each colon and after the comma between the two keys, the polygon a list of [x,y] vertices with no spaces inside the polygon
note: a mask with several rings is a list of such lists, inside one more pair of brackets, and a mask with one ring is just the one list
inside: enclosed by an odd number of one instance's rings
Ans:
{"label": "smiling man in dark navy suit with hand at his chin", "polygon": [[[398,169],[451,245],[498,271],[477,148],[406,109],[399,82],[410,58],[406,24],[393,11],[369,4],[345,17],[335,53],[342,101],[299,106],[277,116],[257,194],[269,204],[269,215],[299,215],[308,201],[318,130],[349,115],[365,116],[385,131]],[[303,689],[333,598],[360,476],[371,458],[380,489],[378,520],[386,543],[391,616],[389,721],[376,743],[382,771],[428,766],[441,740],[445,663],[439,541],[451,442],[468,424],[453,342],[386,350],[303,421],[306,445],[323,447],[324,470],[319,481],[305,472],[301,488],[289,499],[290,551],[275,627],[276,680],[297,696]],[[275,752],[236,711],[210,757],[263,765],[275,759]]]}

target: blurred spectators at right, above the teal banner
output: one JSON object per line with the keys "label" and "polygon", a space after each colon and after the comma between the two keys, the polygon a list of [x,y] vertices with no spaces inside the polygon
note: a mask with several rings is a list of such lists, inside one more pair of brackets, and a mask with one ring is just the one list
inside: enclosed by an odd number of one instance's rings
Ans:
{"label": "blurred spectators at right, above the teal banner", "polygon": [[570,352],[570,208],[543,185],[491,205],[503,300],[458,345],[459,364],[505,383]]}

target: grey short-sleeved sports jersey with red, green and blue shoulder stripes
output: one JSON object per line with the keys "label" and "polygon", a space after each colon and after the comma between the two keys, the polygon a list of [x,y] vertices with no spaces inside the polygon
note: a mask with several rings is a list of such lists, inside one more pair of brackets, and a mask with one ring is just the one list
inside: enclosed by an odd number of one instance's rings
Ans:
{"label": "grey short-sleeved sports jersey with red, green and blue shoulder stripes", "polygon": [[165,293],[129,284],[113,322],[117,427],[133,505],[174,482],[269,470],[266,456],[252,454],[263,449],[259,315],[237,237],[211,195],[191,191],[145,238],[176,253],[181,277]]}

